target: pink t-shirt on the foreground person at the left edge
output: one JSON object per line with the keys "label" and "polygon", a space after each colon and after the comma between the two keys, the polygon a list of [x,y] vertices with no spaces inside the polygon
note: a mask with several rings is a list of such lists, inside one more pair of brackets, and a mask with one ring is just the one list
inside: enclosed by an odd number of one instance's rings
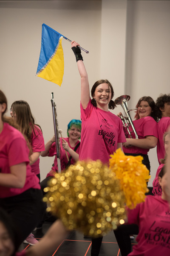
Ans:
{"label": "pink t-shirt on the foreground person at the left edge", "polygon": [[0,133],[0,172],[11,173],[10,167],[26,163],[26,183],[22,189],[0,186],[0,198],[19,195],[24,191],[34,188],[40,189],[39,179],[29,165],[29,149],[23,135],[8,123],[4,123],[3,131]]}

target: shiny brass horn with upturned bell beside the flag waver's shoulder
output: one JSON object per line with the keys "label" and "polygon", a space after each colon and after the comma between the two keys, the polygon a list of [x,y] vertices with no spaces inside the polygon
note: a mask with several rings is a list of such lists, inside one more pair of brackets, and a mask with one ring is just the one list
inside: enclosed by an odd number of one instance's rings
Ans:
{"label": "shiny brass horn with upturned bell beside the flag waver's shoulder", "polygon": [[128,131],[128,133],[130,135],[130,138],[132,138],[131,132],[129,131],[129,126],[131,125],[132,129],[134,131],[135,137],[136,137],[136,139],[138,139],[138,134],[137,134],[137,132],[135,130],[135,127],[133,125],[132,119],[130,117],[130,113],[128,113],[129,111],[136,110],[136,108],[128,109],[128,107],[127,107],[127,101],[128,100],[130,100],[130,96],[129,95],[122,95],[122,96],[116,98],[114,100],[114,102],[115,102],[116,105],[121,105],[123,110],[125,111],[126,117],[123,117],[121,115],[120,118],[122,119],[124,127],[127,128],[127,131]]}

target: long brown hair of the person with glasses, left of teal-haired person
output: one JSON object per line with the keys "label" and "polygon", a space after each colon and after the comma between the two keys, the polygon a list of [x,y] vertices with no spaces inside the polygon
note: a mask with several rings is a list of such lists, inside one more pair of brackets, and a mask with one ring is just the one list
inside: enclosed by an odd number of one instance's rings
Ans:
{"label": "long brown hair of the person with glasses, left of teal-haired person", "polygon": [[[25,134],[29,142],[31,142],[32,129],[34,134],[35,129],[37,129],[38,133],[40,134],[40,131],[37,128],[37,126],[40,127],[40,125],[35,123],[35,119],[31,113],[31,108],[29,104],[24,100],[17,100],[12,103],[11,108],[12,111],[15,112],[17,115],[17,124],[20,126],[20,131],[22,132],[22,134]],[[35,136],[37,137],[36,134]]]}

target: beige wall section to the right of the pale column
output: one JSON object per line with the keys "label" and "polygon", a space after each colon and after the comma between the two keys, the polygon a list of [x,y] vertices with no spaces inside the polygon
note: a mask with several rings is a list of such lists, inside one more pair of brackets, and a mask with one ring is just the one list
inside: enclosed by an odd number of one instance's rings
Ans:
{"label": "beige wall section to the right of the pale column", "polygon": [[[170,93],[170,1],[127,1],[125,93],[134,108],[142,96]],[[132,116],[134,116],[132,114]],[[150,149],[151,179],[159,166]]]}

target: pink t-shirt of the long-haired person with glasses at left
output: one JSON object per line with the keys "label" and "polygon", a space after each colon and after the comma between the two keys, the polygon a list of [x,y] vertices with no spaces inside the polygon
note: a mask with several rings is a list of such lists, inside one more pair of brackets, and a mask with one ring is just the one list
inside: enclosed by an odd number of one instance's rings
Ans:
{"label": "pink t-shirt of the long-haired person with glasses at left", "polygon": [[[34,128],[34,131],[32,129],[32,134],[31,134],[31,148],[33,152],[41,152],[45,150],[45,145],[44,145],[44,138],[42,136],[42,131],[41,129],[38,128],[38,131],[36,128]],[[35,132],[35,134],[34,134]],[[35,175],[40,173],[40,158],[31,165],[31,171],[35,173]]]}

